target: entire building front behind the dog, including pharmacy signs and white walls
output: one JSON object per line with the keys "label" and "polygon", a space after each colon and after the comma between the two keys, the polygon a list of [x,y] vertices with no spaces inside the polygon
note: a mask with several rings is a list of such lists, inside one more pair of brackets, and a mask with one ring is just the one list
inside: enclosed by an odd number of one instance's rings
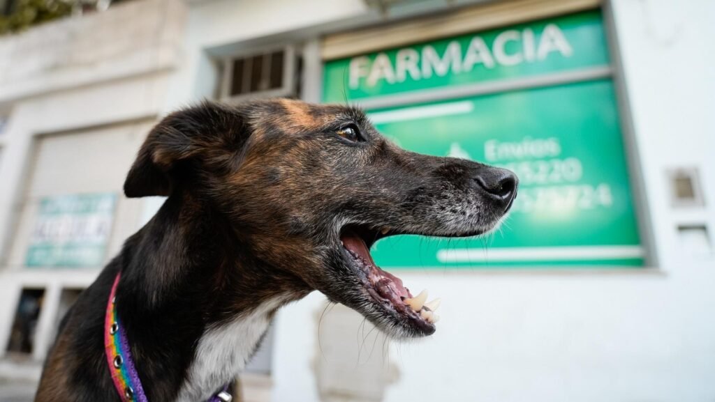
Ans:
{"label": "entire building front behind the dog, including pharmacy signs and white walls", "polygon": [[0,39],[0,376],[39,375],[162,202],[121,194],[160,116],[290,96],[360,104],[406,149],[521,189],[488,240],[376,246],[443,298],[434,336],[392,342],[313,293],[277,314],[246,400],[715,398],[714,18],[706,0],[137,0]]}

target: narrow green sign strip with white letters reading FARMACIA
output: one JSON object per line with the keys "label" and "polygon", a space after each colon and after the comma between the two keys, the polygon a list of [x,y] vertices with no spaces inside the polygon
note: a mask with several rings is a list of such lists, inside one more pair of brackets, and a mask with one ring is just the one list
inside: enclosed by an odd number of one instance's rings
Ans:
{"label": "narrow green sign strip with white letters reading FARMACIA", "polygon": [[323,100],[357,101],[606,65],[601,13],[589,11],[330,61]]}

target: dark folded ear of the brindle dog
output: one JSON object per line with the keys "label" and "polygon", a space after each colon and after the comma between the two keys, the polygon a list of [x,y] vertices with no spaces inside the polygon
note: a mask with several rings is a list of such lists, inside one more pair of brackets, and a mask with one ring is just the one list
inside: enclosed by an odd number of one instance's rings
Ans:
{"label": "dark folded ear of the brindle dog", "polygon": [[[149,132],[137,160],[124,181],[127,197],[169,196],[179,162],[210,156],[220,160],[220,151],[235,149],[245,139],[243,120],[236,109],[205,101],[199,106],[174,112]],[[218,152],[217,152],[218,151]]]}

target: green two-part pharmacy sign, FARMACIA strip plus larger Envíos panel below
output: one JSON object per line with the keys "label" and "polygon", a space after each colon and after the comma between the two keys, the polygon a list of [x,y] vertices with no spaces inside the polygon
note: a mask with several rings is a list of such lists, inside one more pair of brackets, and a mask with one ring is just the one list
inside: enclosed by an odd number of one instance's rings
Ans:
{"label": "green two-part pharmacy sign, FARMACIA strip plus larger Env\u00edos panel below", "polygon": [[[479,45],[483,62],[466,69],[465,59],[474,56],[465,49],[477,46],[472,45],[475,41],[485,44]],[[384,60],[393,69],[401,65],[400,49],[331,61],[325,66],[325,99],[344,101],[345,88],[349,100],[370,99],[608,66],[605,43],[601,15],[591,11],[404,48],[420,55],[419,76],[417,70],[414,76],[403,76],[398,70],[394,76],[383,74],[388,66]],[[445,59],[450,46],[460,52],[453,50],[452,58]],[[459,67],[449,64],[448,69],[440,66],[425,74],[419,61],[432,51],[424,49],[435,49],[438,59],[458,62]],[[355,59],[365,67],[350,76],[353,87],[337,79],[336,71],[350,69]],[[375,63],[384,65],[378,67],[383,72],[371,72]],[[430,69],[435,66],[432,61],[428,64]],[[335,99],[337,94],[340,99]],[[373,251],[378,265],[643,266],[611,79],[373,109],[369,114],[378,130],[405,149],[502,166],[521,180],[511,215],[495,233],[476,239],[386,238]]]}

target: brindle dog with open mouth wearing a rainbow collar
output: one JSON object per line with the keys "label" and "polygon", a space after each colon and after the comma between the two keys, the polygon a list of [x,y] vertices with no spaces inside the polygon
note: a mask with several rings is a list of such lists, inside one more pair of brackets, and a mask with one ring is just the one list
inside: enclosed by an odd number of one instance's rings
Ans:
{"label": "brindle dog with open mouth wearing a rainbow collar", "polygon": [[433,308],[370,246],[486,233],[517,187],[506,169],[400,149],[350,106],[205,101],[170,114],[124,183],[127,197],[167,199],[61,321],[36,401],[135,400],[114,381],[117,323],[146,400],[206,401],[277,309],[316,290],[390,336],[428,336]]}

